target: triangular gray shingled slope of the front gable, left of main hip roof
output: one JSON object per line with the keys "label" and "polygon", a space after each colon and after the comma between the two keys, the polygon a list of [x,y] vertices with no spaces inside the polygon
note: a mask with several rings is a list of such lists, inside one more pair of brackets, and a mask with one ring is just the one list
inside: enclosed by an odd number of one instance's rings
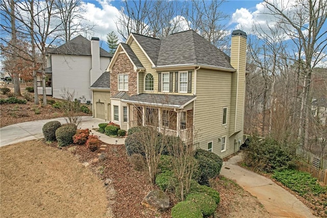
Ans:
{"label": "triangular gray shingled slope of the front gable, left of main hip roof", "polygon": [[152,62],[157,65],[157,59],[160,50],[161,40],[149,36],[132,33],[138,43],[142,46],[144,51],[148,54]]}

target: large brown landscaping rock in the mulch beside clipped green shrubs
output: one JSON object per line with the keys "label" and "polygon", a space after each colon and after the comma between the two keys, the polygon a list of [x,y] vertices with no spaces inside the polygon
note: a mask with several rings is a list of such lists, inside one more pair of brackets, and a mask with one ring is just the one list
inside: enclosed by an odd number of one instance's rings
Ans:
{"label": "large brown landscaping rock in the mulch beside clipped green shrubs", "polygon": [[154,211],[166,211],[169,208],[169,197],[161,190],[150,191],[142,201],[142,205]]}

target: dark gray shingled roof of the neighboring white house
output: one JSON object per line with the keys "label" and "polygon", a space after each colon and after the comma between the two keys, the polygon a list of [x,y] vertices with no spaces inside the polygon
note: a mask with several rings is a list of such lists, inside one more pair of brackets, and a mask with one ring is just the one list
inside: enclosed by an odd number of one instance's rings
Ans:
{"label": "dark gray shingled roof of the neighboring white house", "polygon": [[[55,49],[48,50],[50,54],[68,54],[68,55],[91,55],[91,41],[81,35],[67,41]],[[112,57],[112,55],[100,48],[100,57]]]}

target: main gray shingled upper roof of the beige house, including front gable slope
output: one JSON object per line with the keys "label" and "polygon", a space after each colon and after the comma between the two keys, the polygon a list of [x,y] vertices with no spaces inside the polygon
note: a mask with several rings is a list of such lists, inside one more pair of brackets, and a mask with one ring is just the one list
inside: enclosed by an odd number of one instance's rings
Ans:
{"label": "main gray shingled upper roof of the beige house, including front gable slope", "polygon": [[133,36],[156,66],[204,64],[233,69],[228,55],[193,30],[174,33],[161,40],[134,33]]}

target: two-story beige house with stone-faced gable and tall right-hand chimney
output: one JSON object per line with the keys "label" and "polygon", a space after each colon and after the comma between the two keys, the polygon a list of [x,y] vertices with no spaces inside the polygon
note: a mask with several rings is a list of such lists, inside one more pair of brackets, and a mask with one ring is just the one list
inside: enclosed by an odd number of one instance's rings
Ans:
{"label": "two-story beige house with stone-faced gable and tall right-hand chimney", "polygon": [[221,157],[239,150],[246,38],[232,32],[229,57],[193,30],[164,39],[130,34],[107,69],[110,121],[123,129],[155,123],[159,132]]}

